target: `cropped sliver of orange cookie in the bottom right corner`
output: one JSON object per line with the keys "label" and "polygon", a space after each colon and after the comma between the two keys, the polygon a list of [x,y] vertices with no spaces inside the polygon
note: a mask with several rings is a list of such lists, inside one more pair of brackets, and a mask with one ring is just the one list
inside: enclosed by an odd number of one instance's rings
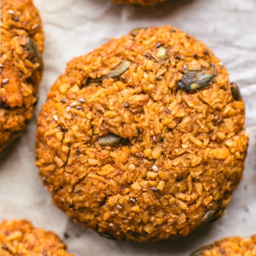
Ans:
{"label": "cropped sliver of orange cookie in the bottom right corner", "polygon": [[190,256],[256,256],[256,235],[247,238],[227,237],[206,245]]}

